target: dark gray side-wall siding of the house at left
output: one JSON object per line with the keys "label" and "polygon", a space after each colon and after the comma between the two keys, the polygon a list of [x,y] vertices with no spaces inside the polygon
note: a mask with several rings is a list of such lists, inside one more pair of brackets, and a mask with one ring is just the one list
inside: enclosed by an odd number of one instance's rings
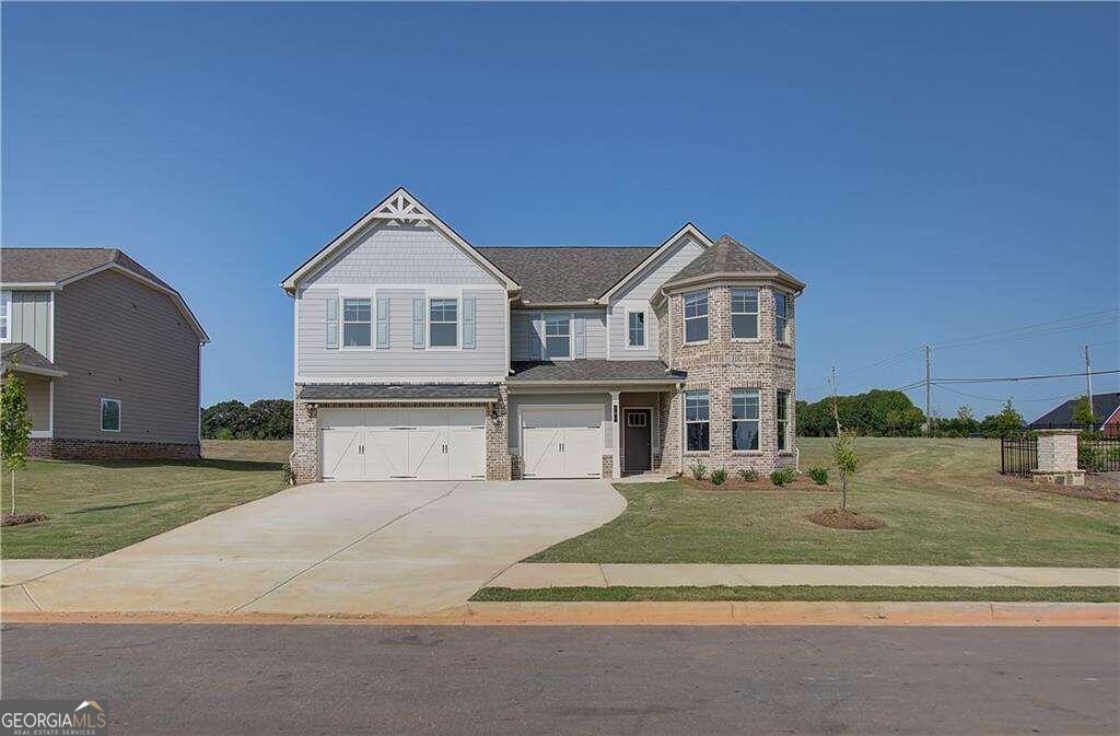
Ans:
{"label": "dark gray side-wall siding of the house at left", "polygon": [[[198,335],[170,297],[114,271],[55,295],[56,438],[198,442]],[[101,399],[121,431],[101,431]]]}

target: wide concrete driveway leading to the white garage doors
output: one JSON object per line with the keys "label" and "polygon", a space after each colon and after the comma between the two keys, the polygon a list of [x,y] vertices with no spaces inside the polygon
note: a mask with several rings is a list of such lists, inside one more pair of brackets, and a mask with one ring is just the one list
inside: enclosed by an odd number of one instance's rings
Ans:
{"label": "wide concrete driveway leading to the white garage doors", "polygon": [[625,506],[604,481],[316,483],[6,587],[2,607],[435,613]]}

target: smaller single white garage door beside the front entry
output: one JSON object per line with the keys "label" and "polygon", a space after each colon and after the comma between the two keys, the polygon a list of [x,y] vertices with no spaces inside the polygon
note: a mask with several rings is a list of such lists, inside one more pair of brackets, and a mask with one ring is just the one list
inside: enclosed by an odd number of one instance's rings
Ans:
{"label": "smaller single white garage door beside the front entry", "polygon": [[526,478],[603,475],[603,407],[522,407],[521,458]]}

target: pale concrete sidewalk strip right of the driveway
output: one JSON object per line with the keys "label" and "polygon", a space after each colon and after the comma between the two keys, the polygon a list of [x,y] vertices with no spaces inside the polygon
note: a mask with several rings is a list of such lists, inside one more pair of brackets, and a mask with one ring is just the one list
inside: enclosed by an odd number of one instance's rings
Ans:
{"label": "pale concrete sidewalk strip right of the driveway", "polygon": [[616,565],[520,562],[497,588],[588,586],[1120,586],[1120,569],[1068,567],[909,567],[903,565]]}

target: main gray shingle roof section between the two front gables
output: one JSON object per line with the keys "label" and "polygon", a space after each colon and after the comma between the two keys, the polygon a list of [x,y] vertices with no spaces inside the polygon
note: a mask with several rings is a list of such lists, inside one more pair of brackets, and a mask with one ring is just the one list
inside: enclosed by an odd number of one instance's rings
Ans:
{"label": "main gray shingle roof section between the two front gables", "polygon": [[497,245],[475,250],[521,285],[522,301],[550,304],[598,298],[657,249]]}

